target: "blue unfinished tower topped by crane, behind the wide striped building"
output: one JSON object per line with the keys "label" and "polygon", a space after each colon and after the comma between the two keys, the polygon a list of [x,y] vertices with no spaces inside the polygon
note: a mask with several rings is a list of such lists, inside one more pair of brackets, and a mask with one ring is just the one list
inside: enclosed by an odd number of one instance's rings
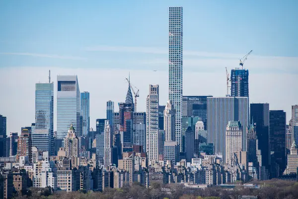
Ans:
{"label": "blue unfinished tower topped by crane, behind the wide striped building", "polygon": [[235,68],[231,70],[231,97],[249,97],[248,70]]}

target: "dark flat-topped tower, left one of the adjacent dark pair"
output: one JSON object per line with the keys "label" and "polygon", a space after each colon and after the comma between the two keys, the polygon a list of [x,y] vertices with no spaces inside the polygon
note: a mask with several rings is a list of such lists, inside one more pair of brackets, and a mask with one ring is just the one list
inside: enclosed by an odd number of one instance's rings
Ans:
{"label": "dark flat-topped tower, left one of the adjacent dark pair", "polygon": [[258,149],[261,150],[261,166],[269,169],[269,103],[251,103],[250,121],[256,124],[256,136],[258,139]]}

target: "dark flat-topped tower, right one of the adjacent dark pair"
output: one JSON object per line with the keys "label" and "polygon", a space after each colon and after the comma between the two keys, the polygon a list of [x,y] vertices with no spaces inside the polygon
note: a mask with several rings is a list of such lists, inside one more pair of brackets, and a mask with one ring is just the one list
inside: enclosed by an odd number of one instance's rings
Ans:
{"label": "dark flat-topped tower, right one of the adjacent dark pair", "polygon": [[283,110],[269,111],[269,145],[282,175],[286,169],[286,112]]}

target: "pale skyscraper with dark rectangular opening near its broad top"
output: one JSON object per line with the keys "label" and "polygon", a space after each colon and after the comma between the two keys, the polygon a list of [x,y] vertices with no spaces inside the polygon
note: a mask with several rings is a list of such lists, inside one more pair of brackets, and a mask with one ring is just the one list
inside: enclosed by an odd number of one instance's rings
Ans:
{"label": "pale skyscraper with dark rectangular opening near its broad top", "polygon": [[64,139],[73,124],[80,136],[80,93],[76,75],[57,76],[57,139]]}

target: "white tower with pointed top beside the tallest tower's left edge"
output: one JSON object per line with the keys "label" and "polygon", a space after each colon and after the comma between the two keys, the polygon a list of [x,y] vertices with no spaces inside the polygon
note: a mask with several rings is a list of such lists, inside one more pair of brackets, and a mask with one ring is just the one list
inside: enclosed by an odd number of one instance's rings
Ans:
{"label": "white tower with pointed top beside the tallest tower's left edge", "polygon": [[175,109],[170,100],[163,111],[164,141],[175,141]]}

